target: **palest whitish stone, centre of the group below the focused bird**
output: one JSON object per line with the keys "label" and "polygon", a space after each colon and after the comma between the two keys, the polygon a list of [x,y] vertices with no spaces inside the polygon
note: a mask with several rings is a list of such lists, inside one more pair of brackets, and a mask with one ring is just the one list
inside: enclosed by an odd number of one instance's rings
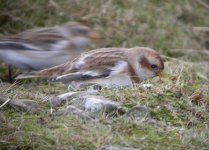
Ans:
{"label": "palest whitish stone, centre of the group below the focused bird", "polygon": [[121,104],[118,102],[114,102],[105,97],[95,95],[85,95],[83,97],[74,99],[73,105],[92,113],[99,111],[105,111],[108,113],[117,110],[121,106]]}

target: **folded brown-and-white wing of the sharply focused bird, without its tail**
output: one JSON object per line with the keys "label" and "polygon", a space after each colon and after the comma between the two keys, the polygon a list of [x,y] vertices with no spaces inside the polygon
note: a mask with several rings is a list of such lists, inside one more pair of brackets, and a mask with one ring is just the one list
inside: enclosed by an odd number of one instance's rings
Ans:
{"label": "folded brown-and-white wing of the sharply focused bird, without its tail", "polygon": [[56,80],[88,80],[120,74],[128,67],[123,50],[103,48],[81,55]]}

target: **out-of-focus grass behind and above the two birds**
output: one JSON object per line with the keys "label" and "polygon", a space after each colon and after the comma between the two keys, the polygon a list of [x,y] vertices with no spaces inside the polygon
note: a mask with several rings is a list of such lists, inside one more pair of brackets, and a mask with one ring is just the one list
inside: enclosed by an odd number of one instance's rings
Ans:
{"label": "out-of-focus grass behind and above the two birds", "polygon": [[209,60],[206,0],[0,0],[0,4],[0,37],[79,22],[103,37],[91,48],[147,46],[167,56]]}

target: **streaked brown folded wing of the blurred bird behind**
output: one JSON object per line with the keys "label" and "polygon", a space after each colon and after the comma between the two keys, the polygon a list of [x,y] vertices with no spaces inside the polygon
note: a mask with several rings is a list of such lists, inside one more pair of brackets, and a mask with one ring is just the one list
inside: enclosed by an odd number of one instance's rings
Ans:
{"label": "streaked brown folded wing of the blurred bird behind", "polygon": [[30,29],[0,40],[4,50],[60,50],[69,45],[69,39],[60,34],[58,27]]}

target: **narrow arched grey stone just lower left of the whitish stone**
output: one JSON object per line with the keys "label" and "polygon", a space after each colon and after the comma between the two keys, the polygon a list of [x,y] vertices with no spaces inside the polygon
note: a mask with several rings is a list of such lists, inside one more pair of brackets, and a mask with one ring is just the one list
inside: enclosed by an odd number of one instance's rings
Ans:
{"label": "narrow arched grey stone just lower left of the whitish stone", "polygon": [[95,122],[95,119],[92,116],[90,116],[87,112],[80,110],[73,105],[69,105],[64,110],[55,112],[52,115],[61,116],[61,115],[68,115],[68,114],[76,115],[76,116],[81,117],[82,119]]}

